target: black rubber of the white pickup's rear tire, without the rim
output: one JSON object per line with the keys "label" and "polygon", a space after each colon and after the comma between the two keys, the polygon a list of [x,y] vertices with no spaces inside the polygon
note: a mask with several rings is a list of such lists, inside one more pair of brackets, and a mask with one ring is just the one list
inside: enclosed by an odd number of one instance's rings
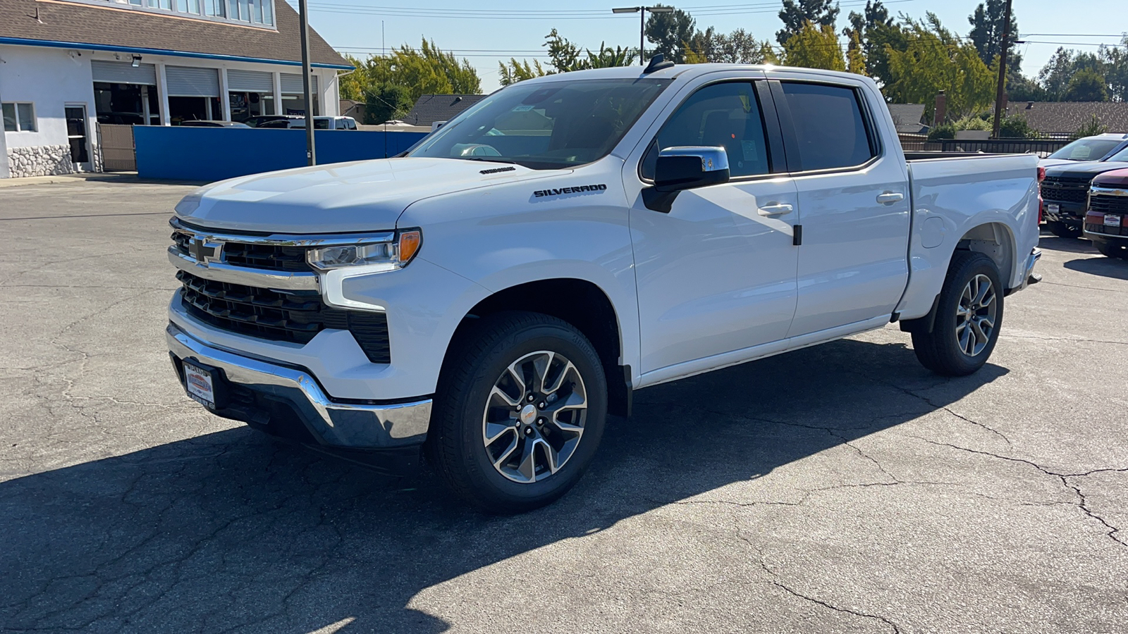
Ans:
{"label": "black rubber of the white pickup's rear tire, without the rim", "polygon": [[[994,289],[994,323],[982,349],[973,354],[961,347],[959,338],[960,325],[964,317],[960,312],[961,297],[964,289],[973,279],[985,275]],[[940,291],[940,301],[936,305],[936,322],[932,332],[913,332],[913,350],[917,360],[925,368],[948,377],[964,377],[982,368],[987,363],[995,344],[998,342],[998,333],[1003,326],[1003,282],[998,274],[995,262],[981,253],[958,250],[952,256],[952,262],[948,266],[948,276],[944,279],[944,288]],[[964,329],[972,326],[964,324]]]}

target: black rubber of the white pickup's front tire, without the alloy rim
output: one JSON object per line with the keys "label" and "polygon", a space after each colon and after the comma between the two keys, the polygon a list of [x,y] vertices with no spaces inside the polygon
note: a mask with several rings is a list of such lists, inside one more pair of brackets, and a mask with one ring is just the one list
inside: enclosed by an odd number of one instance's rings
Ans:
{"label": "black rubber of the white pickup's front tire, without the alloy rim", "polygon": [[[582,421],[579,440],[558,470],[535,474],[532,482],[515,482],[503,475],[502,469],[506,468],[504,465],[495,468],[496,455],[490,454],[485,435],[485,416],[497,410],[508,410],[493,407],[487,411],[487,403],[491,406],[496,404],[491,400],[494,398],[491,396],[492,390],[502,380],[503,373],[508,372],[508,368],[539,351],[563,355],[579,372],[580,381],[567,385],[572,386],[573,394],[576,384],[582,386],[587,402],[585,419]],[[537,385],[537,380],[539,379],[526,376],[529,391],[537,391],[532,387]],[[563,379],[561,382],[563,385]],[[564,390],[562,387],[559,391]],[[521,391],[528,394],[523,388]],[[532,404],[538,405],[537,400],[541,400],[539,396]],[[546,419],[540,416],[539,408],[537,412],[537,423],[534,424],[539,425],[539,421]],[[603,367],[594,346],[580,331],[547,315],[499,312],[478,319],[460,333],[452,344],[435,394],[435,408],[428,435],[428,457],[447,484],[474,507],[490,513],[520,513],[554,502],[575,485],[596,454],[606,419],[607,379]],[[520,416],[511,422],[520,429]],[[528,423],[526,425],[532,426]],[[525,431],[532,433],[531,438],[540,438],[545,442],[554,439],[559,441],[563,437],[554,434],[565,433],[561,428],[553,426],[550,421],[539,430],[534,428]],[[545,431],[543,437],[541,431]],[[528,437],[528,433],[525,435]],[[514,442],[523,450],[527,441],[520,432],[514,431]],[[548,449],[545,446],[537,449],[535,444],[531,451],[540,451],[538,456],[541,461],[547,460],[545,452]],[[547,469],[546,464],[540,467]]]}

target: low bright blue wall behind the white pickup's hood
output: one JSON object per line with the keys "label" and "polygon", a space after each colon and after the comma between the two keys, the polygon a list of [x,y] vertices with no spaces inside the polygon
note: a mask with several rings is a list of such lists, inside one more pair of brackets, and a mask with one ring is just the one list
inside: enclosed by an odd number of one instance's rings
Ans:
{"label": "low bright blue wall behind the white pickup's hood", "polygon": [[[318,165],[395,156],[423,137],[423,132],[314,131]],[[210,182],[306,165],[302,129],[135,125],[133,144],[141,178]]]}

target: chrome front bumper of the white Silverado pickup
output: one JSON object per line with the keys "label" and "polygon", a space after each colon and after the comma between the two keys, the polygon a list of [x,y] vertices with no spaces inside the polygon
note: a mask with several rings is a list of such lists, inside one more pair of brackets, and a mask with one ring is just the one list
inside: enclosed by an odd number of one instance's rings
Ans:
{"label": "chrome front bumper of the white Silverado pickup", "polygon": [[[279,412],[292,411],[318,444],[325,449],[394,449],[422,444],[431,422],[431,399],[380,404],[342,402],[331,398],[308,371],[243,356],[213,347],[188,335],[175,324],[165,329],[177,375],[180,361],[188,359],[218,368],[223,378],[245,398],[215,413],[273,432],[272,425],[290,417]],[[249,400],[248,400],[249,398]],[[263,407],[261,399],[271,405]],[[256,404],[258,406],[256,407]],[[274,405],[282,404],[284,407]]]}

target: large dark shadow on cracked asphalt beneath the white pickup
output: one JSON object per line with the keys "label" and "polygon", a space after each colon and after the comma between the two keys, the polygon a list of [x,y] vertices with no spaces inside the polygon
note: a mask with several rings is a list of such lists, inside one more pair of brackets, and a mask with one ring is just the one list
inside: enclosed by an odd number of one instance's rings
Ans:
{"label": "large dark shadow on cracked asphalt beneath the white pickup", "polygon": [[904,344],[847,340],[641,390],[572,493],[510,518],[467,510],[430,473],[387,478],[246,428],[19,477],[0,484],[0,624],[442,632],[451,624],[409,607],[421,591],[755,479],[1005,373],[943,379]]}

